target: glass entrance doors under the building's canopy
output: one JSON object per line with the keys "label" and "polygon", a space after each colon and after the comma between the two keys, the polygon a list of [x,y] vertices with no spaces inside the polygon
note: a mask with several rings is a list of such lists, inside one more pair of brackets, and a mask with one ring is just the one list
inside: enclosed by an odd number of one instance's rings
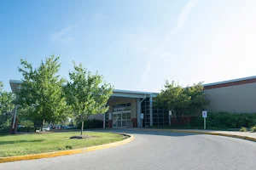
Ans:
{"label": "glass entrance doors under the building's canopy", "polygon": [[131,120],[131,111],[113,113],[113,127],[126,127],[126,122]]}

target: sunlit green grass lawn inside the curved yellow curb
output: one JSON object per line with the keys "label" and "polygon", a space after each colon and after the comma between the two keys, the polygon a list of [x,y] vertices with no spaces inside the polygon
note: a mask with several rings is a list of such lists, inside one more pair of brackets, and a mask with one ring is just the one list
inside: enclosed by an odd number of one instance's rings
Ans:
{"label": "sunlit green grass lawn inside the curved yellow curb", "polygon": [[0,157],[23,156],[57,150],[71,150],[123,139],[116,133],[84,132],[91,139],[69,139],[79,132],[0,135]]}

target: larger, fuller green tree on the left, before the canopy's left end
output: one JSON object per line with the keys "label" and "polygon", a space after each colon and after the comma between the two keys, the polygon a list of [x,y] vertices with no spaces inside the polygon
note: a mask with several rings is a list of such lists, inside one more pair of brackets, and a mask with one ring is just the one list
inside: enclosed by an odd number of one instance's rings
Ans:
{"label": "larger, fuller green tree on the left, before the canopy's left end", "polygon": [[34,69],[27,60],[20,59],[19,71],[23,82],[20,92],[17,93],[17,103],[21,106],[23,116],[41,127],[44,122],[58,122],[67,117],[68,107],[63,91],[63,78],[57,75],[61,64],[59,57],[52,55],[41,61]]}

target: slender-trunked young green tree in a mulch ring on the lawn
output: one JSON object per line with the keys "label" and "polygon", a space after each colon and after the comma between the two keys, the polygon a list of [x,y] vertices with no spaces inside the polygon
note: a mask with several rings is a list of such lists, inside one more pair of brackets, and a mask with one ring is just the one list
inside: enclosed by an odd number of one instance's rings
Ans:
{"label": "slender-trunked young green tree in a mulch ring on the lawn", "polygon": [[90,115],[108,111],[107,102],[113,94],[113,87],[97,72],[93,75],[82,64],[73,64],[74,71],[69,72],[70,82],[66,86],[67,103],[73,108],[74,116],[82,122],[82,135],[84,120]]}

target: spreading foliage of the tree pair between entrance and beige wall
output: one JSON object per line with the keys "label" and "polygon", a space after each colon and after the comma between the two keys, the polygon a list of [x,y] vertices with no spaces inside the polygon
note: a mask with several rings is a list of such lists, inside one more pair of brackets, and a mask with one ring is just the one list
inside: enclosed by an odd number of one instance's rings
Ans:
{"label": "spreading foliage of the tree pair between entrance and beige wall", "polygon": [[191,87],[183,88],[175,82],[168,82],[164,85],[160,94],[155,98],[155,104],[172,110],[179,122],[180,116],[189,117],[197,110],[202,110],[210,101],[205,98],[201,82]]}

